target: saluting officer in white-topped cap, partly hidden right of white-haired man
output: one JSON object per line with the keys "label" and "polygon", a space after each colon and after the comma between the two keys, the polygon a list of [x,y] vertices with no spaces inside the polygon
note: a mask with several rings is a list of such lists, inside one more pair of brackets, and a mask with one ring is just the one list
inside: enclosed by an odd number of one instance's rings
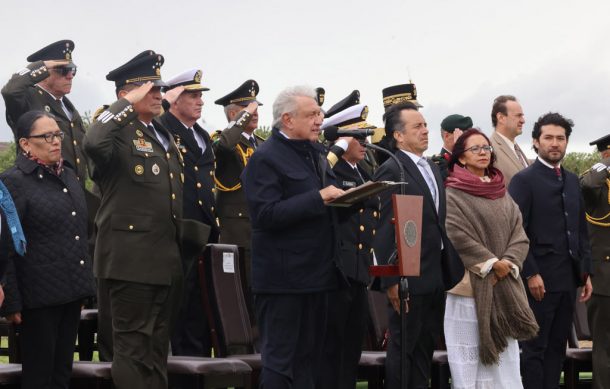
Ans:
{"label": "saluting officer in white-topped cap, partly hidden right of white-haired man", "polygon": [[[344,101],[343,106],[334,108],[333,115],[324,120],[322,129],[328,126],[341,129],[370,127],[365,121],[368,112],[366,105],[350,106]],[[365,140],[341,138],[338,142],[345,140],[349,140],[347,150],[333,166],[333,171],[337,187],[349,190],[371,181],[371,175],[360,165],[366,156]],[[349,287],[329,293],[324,354],[316,385],[318,389],[356,387],[362,339],[368,323],[368,270],[373,264],[372,242],[379,208],[379,196],[373,196],[351,207],[336,209],[339,263]]]}

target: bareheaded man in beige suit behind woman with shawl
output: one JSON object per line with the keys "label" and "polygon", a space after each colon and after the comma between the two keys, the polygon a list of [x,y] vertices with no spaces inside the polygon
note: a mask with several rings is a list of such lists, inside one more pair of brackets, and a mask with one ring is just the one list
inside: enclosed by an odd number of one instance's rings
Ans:
{"label": "bareheaded man in beige suit behind woman with shawl", "polygon": [[495,129],[490,137],[496,154],[494,166],[504,175],[508,188],[513,176],[530,165],[516,141],[517,136],[523,133],[525,116],[515,96],[502,95],[494,99],[491,123]]}

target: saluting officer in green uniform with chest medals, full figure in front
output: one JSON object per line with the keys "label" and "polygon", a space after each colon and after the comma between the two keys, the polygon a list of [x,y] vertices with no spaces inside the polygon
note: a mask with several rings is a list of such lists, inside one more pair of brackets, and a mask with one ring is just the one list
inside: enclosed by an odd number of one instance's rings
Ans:
{"label": "saluting officer in green uniform with chest medals, full figure in front", "polygon": [[102,193],[94,272],[107,285],[117,388],[166,388],[182,264],[182,157],[161,113],[164,59],[144,51],[106,76],[118,100],[85,136]]}

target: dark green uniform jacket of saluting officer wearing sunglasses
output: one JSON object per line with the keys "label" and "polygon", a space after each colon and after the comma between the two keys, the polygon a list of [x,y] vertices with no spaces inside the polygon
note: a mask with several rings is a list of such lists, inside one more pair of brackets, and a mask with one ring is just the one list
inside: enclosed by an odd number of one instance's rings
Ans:
{"label": "dark green uniform jacket of saluting officer wearing sunglasses", "polygon": [[49,70],[42,61],[28,65],[27,69],[11,77],[2,88],[2,97],[6,104],[6,122],[15,134],[17,120],[24,113],[41,110],[53,114],[59,129],[65,134],[64,140],[61,142],[61,155],[64,162],[76,172],[76,176],[84,188],[87,179],[87,159],[82,148],[85,136],[83,121],[66,96],[63,101],[72,113],[72,120],[66,116],[61,103],[36,85],[47,77],[49,77]]}

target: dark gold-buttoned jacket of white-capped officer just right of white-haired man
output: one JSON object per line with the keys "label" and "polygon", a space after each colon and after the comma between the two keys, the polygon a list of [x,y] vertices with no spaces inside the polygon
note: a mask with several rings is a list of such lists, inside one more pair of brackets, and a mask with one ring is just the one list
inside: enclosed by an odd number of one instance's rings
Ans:
{"label": "dark gold-buttoned jacket of white-capped officer just right of white-haired man", "polygon": [[[371,176],[358,165],[365,181]],[[348,190],[362,184],[354,169],[340,159],[333,167],[337,187]],[[339,226],[339,261],[346,277],[368,284],[369,266],[373,264],[373,238],[379,219],[379,196],[373,196],[348,208],[337,208]]]}

